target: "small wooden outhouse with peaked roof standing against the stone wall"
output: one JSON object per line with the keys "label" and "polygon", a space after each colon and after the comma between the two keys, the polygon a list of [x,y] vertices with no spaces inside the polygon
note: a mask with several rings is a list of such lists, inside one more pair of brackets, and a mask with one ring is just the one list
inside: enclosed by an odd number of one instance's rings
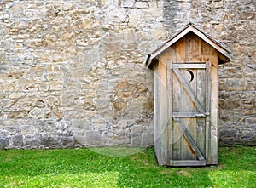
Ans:
{"label": "small wooden outhouse with peaked roof standing against the stone wall", "polygon": [[218,65],[229,51],[189,24],[148,54],[160,165],[218,164]]}

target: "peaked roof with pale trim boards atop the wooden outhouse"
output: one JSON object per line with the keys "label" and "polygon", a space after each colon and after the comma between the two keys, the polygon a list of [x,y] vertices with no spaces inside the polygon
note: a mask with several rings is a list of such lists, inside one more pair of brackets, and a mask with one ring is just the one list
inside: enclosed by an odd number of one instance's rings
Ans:
{"label": "peaked roof with pale trim boards atop the wooden outhouse", "polygon": [[148,54],[148,58],[146,60],[146,66],[148,68],[151,68],[154,58],[156,58],[159,54],[164,52],[166,48],[169,48],[170,46],[172,46],[173,43],[176,43],[179,39],[187,35],[189,32],[193,32],[197,37],[200,37],[206,43],[211,45],[212,48],[215,48],[218,51],[219,64],[223,64],[230,61],[229,50],[224,48],[223,45],[221,45],[220,43],[218,43],[218,41],[210,37],[207,33],[205,33],[204,31],[201,31],[201,29],[189,23],[189,25],[185,26],[182,30],[178,31],[176,34],[170,37],[159,48],[155,49],[152,53]]}

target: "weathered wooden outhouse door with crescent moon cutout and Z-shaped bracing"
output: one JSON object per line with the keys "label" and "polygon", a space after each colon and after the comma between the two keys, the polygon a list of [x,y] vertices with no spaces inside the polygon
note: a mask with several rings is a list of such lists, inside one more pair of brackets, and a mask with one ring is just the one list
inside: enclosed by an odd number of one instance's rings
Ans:
{"label": "weathered wooden outhouse door with crescent moon cutout and Z-shaped bracing", "polygon": [[210,63],[177,63],[170,66],[172,123],[169,154],[172,166],[201,166],[207,163],[210,66]]}

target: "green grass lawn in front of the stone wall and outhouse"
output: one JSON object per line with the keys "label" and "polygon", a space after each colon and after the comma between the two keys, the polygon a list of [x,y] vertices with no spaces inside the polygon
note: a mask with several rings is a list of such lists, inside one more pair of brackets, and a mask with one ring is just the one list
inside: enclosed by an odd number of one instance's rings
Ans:
{"label": "green grass lawn in front of the stone wall and outhouse", "polygon": [[219,165],[206,168],[159,166],[153,148],[126,157],[0,150],[0,187],[256,187],[256,147],[221,147]]}

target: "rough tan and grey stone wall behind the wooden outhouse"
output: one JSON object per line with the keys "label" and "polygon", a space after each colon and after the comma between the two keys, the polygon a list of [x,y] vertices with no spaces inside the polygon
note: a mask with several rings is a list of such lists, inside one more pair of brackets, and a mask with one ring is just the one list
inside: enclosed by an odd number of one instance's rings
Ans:
{"label": "rough tan and grey stone wall behind the wooden outhouse", "polygon": [[0,148],[154,144],[147,54],[189,22],[220,66],[221,145],[256,145],[253,0],[0,2]]}

